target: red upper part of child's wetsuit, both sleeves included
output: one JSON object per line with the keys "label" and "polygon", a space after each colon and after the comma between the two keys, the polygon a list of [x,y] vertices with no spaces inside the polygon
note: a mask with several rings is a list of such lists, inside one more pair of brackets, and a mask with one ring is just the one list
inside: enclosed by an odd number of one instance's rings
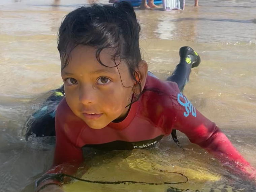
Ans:
{"label": "red upper part of child's wetsuit, both sleeves included", "polygon": [[132,104],[122,122],[91,129],[73,114],[63,99],[57,108],[55,129],[54,165],[59,166],[48,173],[69,172],[70,167],[65,169],[65,163],[83,162],[84,146],[105,150],[143,149],[168,136],[172,129],[185,133],[192,143],[216,156],[249,165],[215,123],[200,114],[180,93],[176,83],[151,76],[147,77],[144,93]]}

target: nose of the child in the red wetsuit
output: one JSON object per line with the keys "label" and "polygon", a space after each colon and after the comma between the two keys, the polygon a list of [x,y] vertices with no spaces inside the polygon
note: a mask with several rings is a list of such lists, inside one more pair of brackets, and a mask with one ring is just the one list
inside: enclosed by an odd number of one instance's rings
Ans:
{"label": "nose of the child in the red wetsuit", "polygon": [[79,101],[84,105],[96,103],[96,91],[93,85],[82,85],[79,89]]}

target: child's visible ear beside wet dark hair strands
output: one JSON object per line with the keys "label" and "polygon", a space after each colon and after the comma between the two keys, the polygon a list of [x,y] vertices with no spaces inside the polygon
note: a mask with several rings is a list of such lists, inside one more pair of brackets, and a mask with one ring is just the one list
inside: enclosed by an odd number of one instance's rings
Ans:
{"label": "child's visible ear beside wet dark hair strands", "polygon": [[[135,73],[135,78],[141,84],[141,91],[145,87],[147,76],[148,76],[148,63],[146,61],[142,60],[142,61],[139,62],[138,69],[136,70],[136,73]],[[136,93],[136,94],[140,93],[140,89],[139,89],[138,84],[136,82],[135,82],[135,85],[134,85],[133,92]]]}

